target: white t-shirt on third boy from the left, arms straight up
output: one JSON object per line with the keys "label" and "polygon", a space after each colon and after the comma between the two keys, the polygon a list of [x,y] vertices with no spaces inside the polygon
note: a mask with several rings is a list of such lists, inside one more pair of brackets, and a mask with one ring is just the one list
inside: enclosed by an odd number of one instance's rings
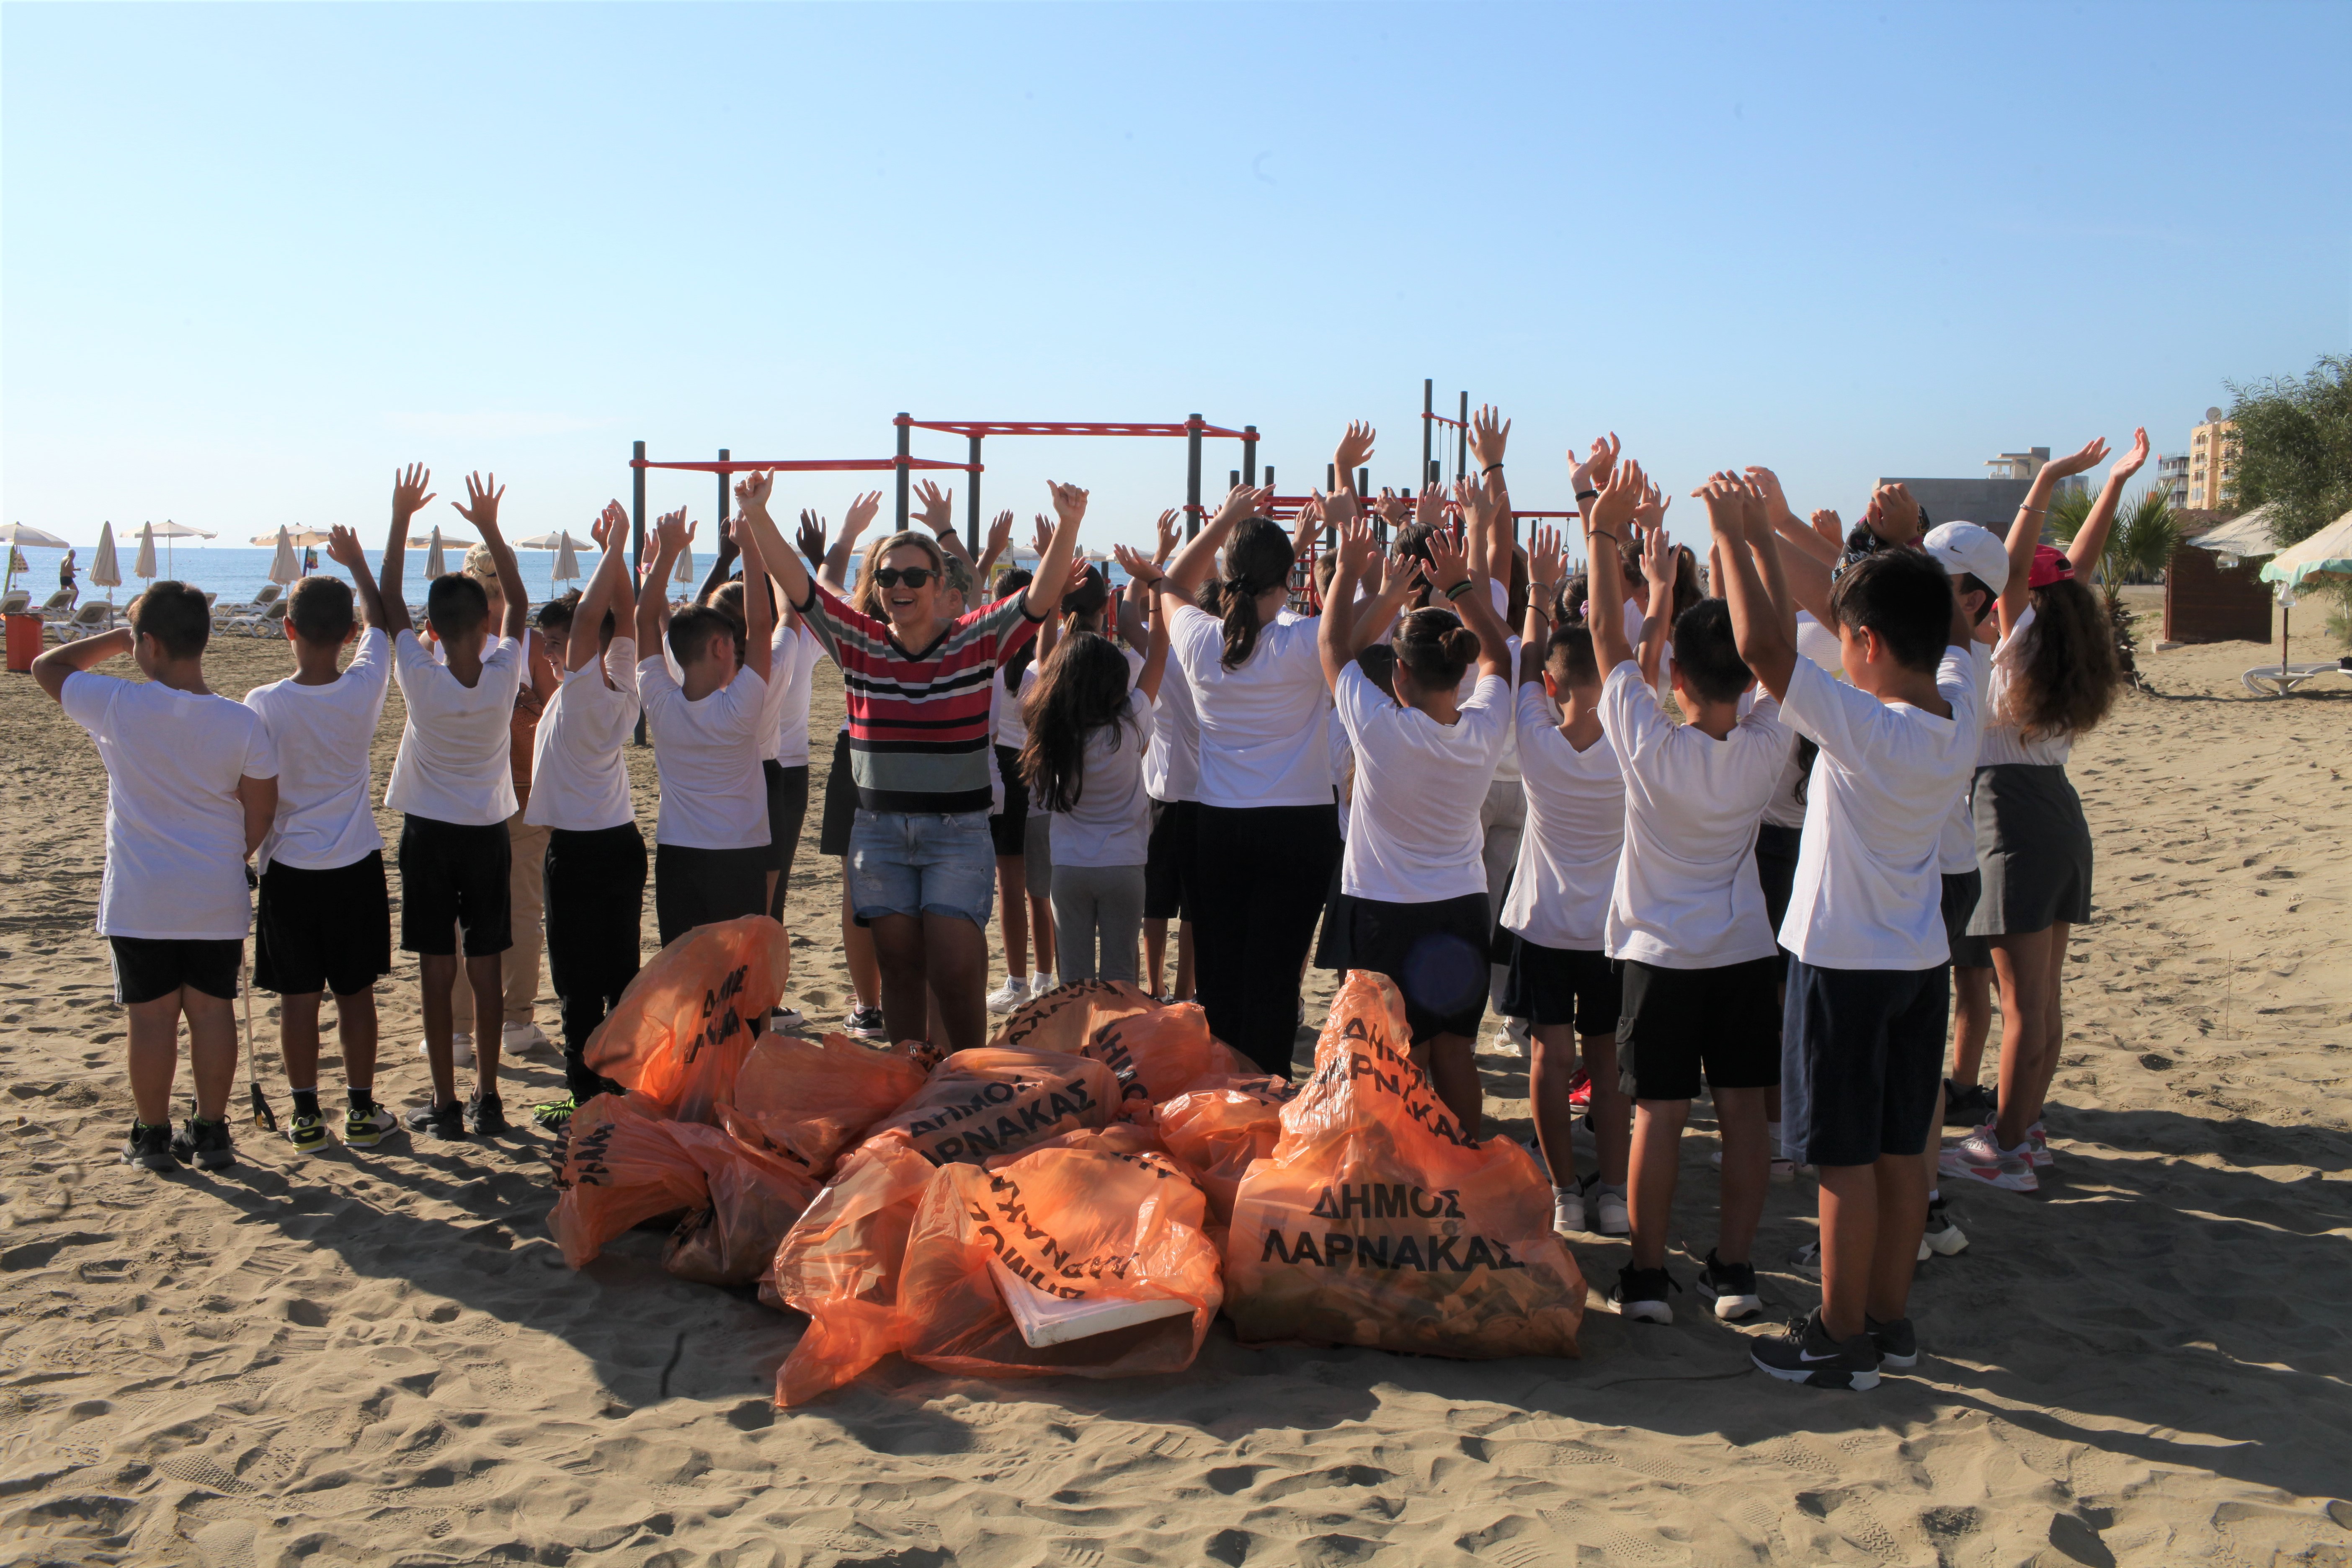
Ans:
{"label": "white t-shirt on third boy from the left, arms straight up", "polygon": [[409,816],[487,827],[515,816],[513,719],[522,644],[494,637],[482,679],[459,682],[416,632],[393,637],[393,679],[409,705],[383,804]]}

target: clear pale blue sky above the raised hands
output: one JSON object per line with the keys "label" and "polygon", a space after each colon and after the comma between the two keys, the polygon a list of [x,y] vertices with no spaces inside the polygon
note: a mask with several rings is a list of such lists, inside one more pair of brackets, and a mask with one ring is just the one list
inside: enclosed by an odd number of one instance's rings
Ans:
{"label": "clear pale blue sky above the raised hands", "polygon": [[[1423,376],[1515,418],[1522,505],[1616,428],[1851,517],[2178,451],[2352,348],[2338,2],[7,5],[0,45],[0,515],[73,541],[376,534],[409,458],[579,529],[635,437],[880,456],[898,409],[1197,409],[1282,489],[1357,416],[1404,482]],[[1141,541],[1183,447],[993,440],[983,498],[1047,477]]]}

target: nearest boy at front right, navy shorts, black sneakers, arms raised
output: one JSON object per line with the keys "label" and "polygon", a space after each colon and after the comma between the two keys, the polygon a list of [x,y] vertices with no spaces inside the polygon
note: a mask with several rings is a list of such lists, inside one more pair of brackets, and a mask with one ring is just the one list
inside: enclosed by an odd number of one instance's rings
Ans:
{"label": "nearest boy at front right, navy shorts, black sneakers, arms raised", "polygon": [[[1830,590],[1846,682],[1797,654],[1795,602],[1762,489],[1703,491],[1740,654],[1820,745],[1780,945],[1790,950],[1788,1140],[1820,1168],[1820,1307],[1755,1347],[1757,1368],[1870,1389],[1915,1366],[1910,1276],[1943,1067],[1947,940],[1938,839],[1976,762],[1969,618],[1945,567],[1910,548]],[[1757,557],[1764,574],[1757,574]]]}

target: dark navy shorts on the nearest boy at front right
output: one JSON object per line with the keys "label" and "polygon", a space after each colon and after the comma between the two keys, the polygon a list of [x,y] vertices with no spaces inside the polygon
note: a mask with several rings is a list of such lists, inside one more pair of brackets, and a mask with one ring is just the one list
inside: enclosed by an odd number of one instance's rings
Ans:
{"label": "dark navy shorts on the nearest boy at front right", "polygon": [[1788,966],[1780,1135],[1809,1166],[1917,1157],[1943,1088],[1952,971]]}

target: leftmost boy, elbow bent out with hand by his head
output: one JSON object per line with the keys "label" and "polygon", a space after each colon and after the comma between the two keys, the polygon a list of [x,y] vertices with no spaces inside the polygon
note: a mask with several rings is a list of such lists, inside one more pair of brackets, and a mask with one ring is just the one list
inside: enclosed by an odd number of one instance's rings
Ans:
{"label": "leftmost boy, elbow bent out with hand by his head", "polygon": [[[106,764],[106,877],[99,936],[129,1013],[134,1121],[122,1164],[216,1171],[235,1159],[228,1091],[238,1077],[235,997],[252,905],[245,858],[278,809],[278,755],[261,717],[205,684],[212,607],[162,581],[129,625],[33,661],[33,679],[89,731]],[[118,654],[143,682],[94,675]],[[179,1020],[188,1020],[195,1114],[172,1135]]]}

